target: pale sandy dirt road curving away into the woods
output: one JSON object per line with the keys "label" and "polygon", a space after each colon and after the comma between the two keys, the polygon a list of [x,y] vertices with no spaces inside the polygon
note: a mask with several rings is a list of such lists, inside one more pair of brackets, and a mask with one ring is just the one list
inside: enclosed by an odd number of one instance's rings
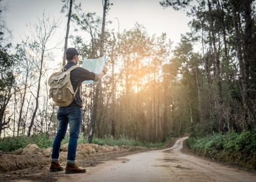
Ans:
{"label": "pale sandy dirt road curving away into the woods", "polygon": [[59,181],[256,181],[256,174],[182,153],[185,139],[180,138],[171,148],[127,155],[87,168],[86,174],[66,175]]}

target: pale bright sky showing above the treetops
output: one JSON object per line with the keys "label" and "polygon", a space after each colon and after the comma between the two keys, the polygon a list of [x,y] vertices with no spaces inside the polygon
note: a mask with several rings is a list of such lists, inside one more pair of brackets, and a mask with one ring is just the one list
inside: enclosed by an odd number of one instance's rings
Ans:
{"label": "pale bright sky showing above the treetops", "polygon": [[[163,8],[159,5],[160,0],[110,0],[114,3],[106,16],[107,20],[112,21],[110,29],[118,31],[118,20],[120,32],[124,29],[132,29],[138,22],[146,28],[148,34],[160,35],[162,32],[167,33],[174,45],[180,41],[180,34],[189,31],[187,23],[189,18],[184,11],[175,11],[172,8]],[[102,0],[76,0],[76,4],[81,3],[82,10],[85,12],[96,12],[98,16],[103,14]],[[63,47],[65,40],[65,31],[67,26],[67,17],[61,14],[63,3],[61,0],[3,0],[6,6],[4,13],[7,28],[12,32],[10,42],[12,44],[19,43],[24,39],[25,34],[29,34],[27,25],[37,23],[42,17],[42,13],[51,18],[61,21],[59,27],[52,38],[52,42],[58,42],[58,49],[53,51],[54,57],[59,59],[63,55]],[[117,19],[118,18],[118,19]],[[76,34],[74,29],[77,28],[71,23],[70,34]],[[68,43],[72,46],[71,41]],[[54,46],[54,45],[52,45]]]}

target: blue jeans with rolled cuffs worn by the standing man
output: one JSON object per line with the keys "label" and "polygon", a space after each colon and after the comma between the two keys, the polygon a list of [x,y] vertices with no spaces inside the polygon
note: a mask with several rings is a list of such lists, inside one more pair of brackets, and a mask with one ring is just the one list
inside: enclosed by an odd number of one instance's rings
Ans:
{"label": "blue jeans with rolled cuffs worn by the standing man", "polygon": [[69,146],[67,162],[74,163],[76,159],[77,140],[82,122],[82,109],[80,107],[59,107],[57,110],[57,135],[52,146],[52,161],[58,161],[61,140],[66,135],[67,125],[69,124]]}

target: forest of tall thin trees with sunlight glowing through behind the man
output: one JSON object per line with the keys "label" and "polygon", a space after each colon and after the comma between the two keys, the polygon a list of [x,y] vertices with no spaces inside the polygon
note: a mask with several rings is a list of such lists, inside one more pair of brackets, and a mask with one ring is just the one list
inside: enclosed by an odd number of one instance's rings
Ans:
{"label": "forest of tall thin trees with sunlight glowing through behind the man", "polygon": [[[191,18],[190,31],[176,46],[168,32],[148,34],[143,22],[124,31],[109,29],[108,12],[115,6],[111,0],[103,1],[103,16],[85,12],[74,0],[62,1],[59,11],[67,14],[63,51],[72,42],[83,59],[108,58],[103,81],[82,85],[81,133],[88,142],[93,136],[165,142],[184,133],[255,133],[255,1],[158,2],[163,10],[183,10]],[[65,54],[55,60],[48,44],[59,21],[42,14],[31,33],[12,45],[6,39],[2,3],[0,140],[40,134],[53,138],[57,107],[48,99],[47,80],[66,61]],[[168,18],[161,21],[168,23]],[[69,34],[70,22],[77,34]]]}

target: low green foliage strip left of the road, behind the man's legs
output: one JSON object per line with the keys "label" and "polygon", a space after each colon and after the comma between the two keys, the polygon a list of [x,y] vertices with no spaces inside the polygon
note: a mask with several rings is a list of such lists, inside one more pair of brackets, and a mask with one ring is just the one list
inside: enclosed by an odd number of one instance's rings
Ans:
{"label": "low green foliage strip left of the road, behind the man's legs", "polygon": [[[16,137],[5,137],[0,139],[0,150],[1,151],[14,151],[18,148],[25,148],[28,144],[37,144],[39,148],[48,148],[52,147],[54,138],[46,135],[39,134],[33,136],[16,136]],[[164,146],[170,142],[172,138],[166,140],[165,142],[140,142],[134,139],[127,139],[124,137],[114,139],[114,138],[93,138],[93,144],[98,144],[100,146],[144,146],[147,148],[157,148]],[[61,142],[61,145],[69,142],[69,136],[67,135]],[[84,137],[82,133],[78,138],[78,144],[88,143],[88,138]]]}

